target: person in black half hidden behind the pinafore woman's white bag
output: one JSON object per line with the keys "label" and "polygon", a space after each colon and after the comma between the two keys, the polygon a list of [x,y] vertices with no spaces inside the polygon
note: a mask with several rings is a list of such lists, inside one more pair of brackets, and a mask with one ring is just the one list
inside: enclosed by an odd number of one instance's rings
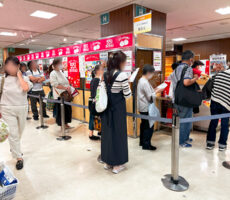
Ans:
{"label": "person in black half hidden behind the pinafore woman's white bag", "polygon": [[[103,76],[103,67],[100,65],[96,65],[93,72],[92,72],[92,80],[90,82],[90,98],[95,99],[96,93],[97,93],[97,87],[99,85],[99,82],[101,80],[101,77]],[[90,110],[90,117],[89,117],[89,139],[91,140],[100,140],[100,137],[93,135],[94,131],[94,113]]]}

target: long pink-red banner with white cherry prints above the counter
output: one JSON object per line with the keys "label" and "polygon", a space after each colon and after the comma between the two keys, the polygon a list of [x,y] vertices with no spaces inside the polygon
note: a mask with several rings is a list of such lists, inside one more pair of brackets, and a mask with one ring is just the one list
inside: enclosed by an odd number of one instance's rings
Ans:
{"label": "long pink-red banner with white cherry prints above the counter", "polygon": [[78,45],[61,47],[57,49],[46,50],[42,52],[36,52],[26,55],[17,56],[21,62],[38,60],[38,59],[49,59],[60,56],[79,55],[97,51],[107,51],[117,48],[125,48],[133,46],[133,34],[125,34],[105,38],[97,41],[86,42]]}

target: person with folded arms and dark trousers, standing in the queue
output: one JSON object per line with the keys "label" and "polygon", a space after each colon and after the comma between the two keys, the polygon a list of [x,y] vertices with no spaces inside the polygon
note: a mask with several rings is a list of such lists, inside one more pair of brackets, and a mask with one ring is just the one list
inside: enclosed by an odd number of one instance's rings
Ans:
{"label": "person with folded arms and dark trousers, standing in the queue", "polygon": [[[30,94],[32,95],[41,95],[42,97],[45,97],[45,93],[42,87],[43,81],[45,81],[44,74],[38,69],[37,63],[35,61],[29,61],[28,62],[28,68],[27,76],[29,77],[30,81],[33,83],[33,88]],[[38,109],[37,109],[37,103],[39,103],[38,98],[31,97],[30,98],[31,103],[31,109],[33,113],[34,120],[39,119],[38,115]],[[49,116],[46,114],[46,104],[43,102],[43,117],[49,118]]]}

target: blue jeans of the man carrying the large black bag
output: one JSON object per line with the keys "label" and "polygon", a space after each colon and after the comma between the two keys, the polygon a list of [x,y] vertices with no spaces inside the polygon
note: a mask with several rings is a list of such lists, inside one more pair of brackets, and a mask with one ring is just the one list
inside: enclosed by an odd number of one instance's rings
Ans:
{"label": "blue jeans of the man carrying the large black bag", "polygon": [[[181,119],[192,117],[193,108],[179,106],[176,104],[174,104],[174,107],[176,108],[177,113]],[[189,139],[191,128],[192,123],[180,124],[180,145],[186,143],[186,141]]]}

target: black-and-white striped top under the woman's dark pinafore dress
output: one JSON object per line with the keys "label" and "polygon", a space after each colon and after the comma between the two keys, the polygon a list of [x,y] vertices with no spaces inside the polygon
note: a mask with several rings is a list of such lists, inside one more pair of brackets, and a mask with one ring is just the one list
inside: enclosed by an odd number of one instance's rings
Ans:
{"label": "black-and-white striped top under the woman's dark pinafore dress", "polygon": [[[114,74],[115,73],[116,71],[114,72]],[[129,98],[132,94],[130,86],[129,86],[129,82],[128,82],[128,77],[125,72],[121,72],[117,76],[111,88],[112,93],[119,93],[121,91],[123,92],[123,95],[125,98]]]}

